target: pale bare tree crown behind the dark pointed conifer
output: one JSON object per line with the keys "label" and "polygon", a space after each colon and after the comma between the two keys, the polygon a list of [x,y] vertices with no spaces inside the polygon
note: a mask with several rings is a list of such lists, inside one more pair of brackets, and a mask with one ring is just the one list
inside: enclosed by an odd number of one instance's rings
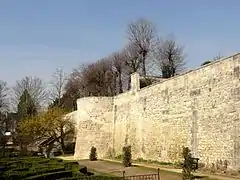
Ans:
{"label": "pale bare tree crown behind the dark pointed conifer", "polygon": [[16,82],[16,85],[13,87],[15,104],[18,104],[19,99],[25,90],[29,92],[38,109],[45,105],[48,99],[48,92],[40,78],[26,76]]}

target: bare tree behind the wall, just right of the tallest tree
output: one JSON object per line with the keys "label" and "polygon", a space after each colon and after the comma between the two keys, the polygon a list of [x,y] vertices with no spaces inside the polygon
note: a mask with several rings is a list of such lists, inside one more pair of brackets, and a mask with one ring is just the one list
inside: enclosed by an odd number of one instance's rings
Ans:
{"label": "bare tree behind the wall, just right of the tallest tree", "polygon": [[183,46],[178,45],[174,39],[159,40],[156,48],[156,60],[163,78],[175,76],[185,66]]}

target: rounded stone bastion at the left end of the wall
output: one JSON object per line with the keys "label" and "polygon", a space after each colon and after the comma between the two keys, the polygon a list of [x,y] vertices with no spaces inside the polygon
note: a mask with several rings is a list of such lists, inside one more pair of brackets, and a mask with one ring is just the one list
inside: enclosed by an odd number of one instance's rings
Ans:
{"label": "rounded stone bastion at the left end of the wall", "polygon": [[98,157],[104,157],[112,147],[113,99],[86,97],[77,100],[77,139],[75,158],[88,159],[92,146]]}

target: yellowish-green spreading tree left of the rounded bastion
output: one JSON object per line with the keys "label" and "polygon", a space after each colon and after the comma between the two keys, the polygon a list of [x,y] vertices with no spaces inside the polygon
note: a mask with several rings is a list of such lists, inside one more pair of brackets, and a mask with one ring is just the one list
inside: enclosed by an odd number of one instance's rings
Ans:
{"label": "yellowish-green spreading tree left of the rounded bastion", "polygon": [[22,120],[19,124],[21,135],[32,137],[32,142],[45,141],[46,143],[42,145],[47,147],[48,155],[54,142],[60,143],[64,150],[64,141],[74,134],[75,128],[71,117],[65,116],[67,112],[65,109],[54,107],[37,116]]}

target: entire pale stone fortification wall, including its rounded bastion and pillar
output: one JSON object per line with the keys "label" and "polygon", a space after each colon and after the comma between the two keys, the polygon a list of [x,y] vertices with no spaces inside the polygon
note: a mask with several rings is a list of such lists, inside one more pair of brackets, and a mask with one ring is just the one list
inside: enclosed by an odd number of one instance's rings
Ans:
{"label": "entire pale stone fortification wall, including its rounded bastion and pillar", "polygon": [[126,93],[79,99],[75,157],[129,144],[134,158],[175,162],[188,146],[206,165],[239,168],[239,67],[237,54],[143,89],[134,74]]}

